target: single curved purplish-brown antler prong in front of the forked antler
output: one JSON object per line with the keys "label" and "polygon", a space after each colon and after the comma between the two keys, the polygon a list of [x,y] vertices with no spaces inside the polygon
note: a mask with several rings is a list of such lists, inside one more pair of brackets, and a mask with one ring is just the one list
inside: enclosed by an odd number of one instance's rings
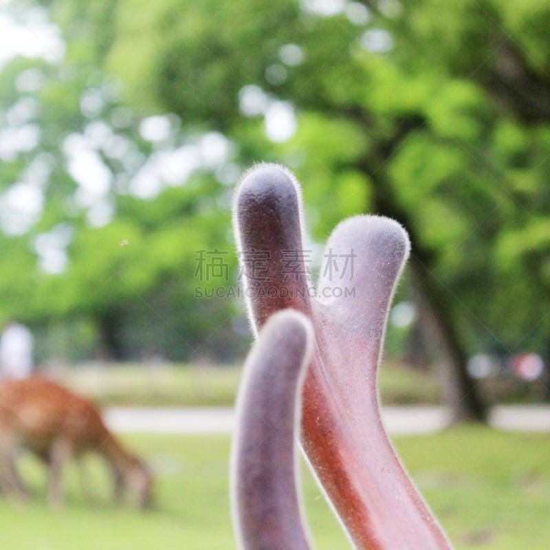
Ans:
{"label": "single curved purplish-brown antler prong in front of the forked antler", "polygon": [[311,356],[311,324],[275,314],[245,363],[237,398],[231,498],[243,550],[309,550],[296,482],[300,390]]}

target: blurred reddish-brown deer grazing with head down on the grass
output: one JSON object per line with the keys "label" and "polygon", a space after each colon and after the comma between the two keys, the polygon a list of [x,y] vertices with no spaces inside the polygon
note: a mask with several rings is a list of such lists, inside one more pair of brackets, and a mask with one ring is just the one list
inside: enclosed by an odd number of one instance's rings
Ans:
{"label": "blurred reddish-brown deer grazing with head down on the grass", "polygon": [[47,464],[48,502],[54,507],[64,503],[67,459],[87,451],[107,459],[116,501],[127,489],[137,506],[151,505],[151,474],[115,439],[94,404],[40,376],[0,382],[0,489],[19,501],[27,495],[15,467],[23,448]]}

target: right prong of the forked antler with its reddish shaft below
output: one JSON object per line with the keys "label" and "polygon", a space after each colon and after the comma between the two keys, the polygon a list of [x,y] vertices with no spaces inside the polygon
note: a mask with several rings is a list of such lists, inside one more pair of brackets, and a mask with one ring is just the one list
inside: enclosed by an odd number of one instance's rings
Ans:
{"label": "right prong of the forked antler with its reddish shaft below", "polygon": [[[361,549],[449,547],[399,463],[380,418],[377,367],[388,309],[409,249],[408,235],[391,219],[343,221],[325,254],[335,265],[323,268],[320,300],[312,304],[319,356],[304,386],[303,446]],[[346,272],[344,263],[351,259]]]}

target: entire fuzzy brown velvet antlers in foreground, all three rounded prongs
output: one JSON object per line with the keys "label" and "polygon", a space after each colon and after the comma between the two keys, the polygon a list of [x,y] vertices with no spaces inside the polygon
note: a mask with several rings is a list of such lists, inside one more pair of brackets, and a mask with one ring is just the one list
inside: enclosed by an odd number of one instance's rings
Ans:
{"label": "entire fuzzy brown velvet antlers in foreground, all three rounded prongs", "polygon": [[[340,222],[327,241],[315,292],[305,269],[303,220],[300,185],[287,168],[259,164],[243,175],[233,222],[257,339],[243,372],[232,443],[239,547],[309,550],[296,487],[296,436],[354,548],[450,549],[380,416],[377,371],[410,252],[408,234],[375,215]],[[245,261],[247,252],[263,252],[261,270]]]}

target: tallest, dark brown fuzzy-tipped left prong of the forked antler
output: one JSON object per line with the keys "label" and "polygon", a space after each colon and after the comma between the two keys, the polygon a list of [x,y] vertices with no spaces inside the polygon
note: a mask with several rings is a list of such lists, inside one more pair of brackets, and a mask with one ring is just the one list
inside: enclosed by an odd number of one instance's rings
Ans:
{"label": "tallest, dark brown fuzzy-tipped left prong of the forked antler", "polygon": [[[236,191],[233,220],[256,332],[279,309],[309,314],[300,217],[300,187],[289,170],[264,163],[245,173]],[[285,254],[291,255],[292,273],[282,269]]]}

